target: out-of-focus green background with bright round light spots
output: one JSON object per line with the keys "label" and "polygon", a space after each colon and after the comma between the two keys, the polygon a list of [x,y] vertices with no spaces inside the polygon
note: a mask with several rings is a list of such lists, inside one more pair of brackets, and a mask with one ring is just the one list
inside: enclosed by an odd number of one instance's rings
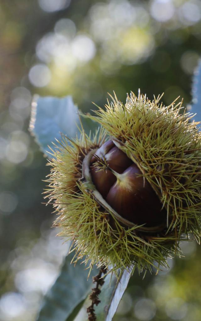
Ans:
{"label": "out-of-focus green background with bright round light spots", "polygon": [[[70,94],[88,112],[107,92],[125,101],[141,88],[188,106],[201,3],[7,0],[0,27],[0,321],[33,321],[67,247],[41,204],[48,168],[27,131],[32,94]],[[115,320],[201,319],[200,249],[194,241],[182,248],[187,258],[170,260],[169,272],[133,276]]]}

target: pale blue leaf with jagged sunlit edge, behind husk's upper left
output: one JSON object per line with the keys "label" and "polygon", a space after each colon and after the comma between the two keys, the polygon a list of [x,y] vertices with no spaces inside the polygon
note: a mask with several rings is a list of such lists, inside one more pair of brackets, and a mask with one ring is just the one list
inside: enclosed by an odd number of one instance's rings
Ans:
{"label": "pale blue leaf with jagged sunlit edge, behind husk's upper left", "polygon": [[[74,105],[72,97],[35,97],[32,102],[32,116],[30,130],[34,134],[42,152],[47,155],[55,138],[60,140],[60,133],[69,138],[80,135],[80,118],[78,107]],[[82,126],[87,134],[95,132],[96,122],[89,118],[82,117]],[[79,127],[79,128],[78,128]]]}

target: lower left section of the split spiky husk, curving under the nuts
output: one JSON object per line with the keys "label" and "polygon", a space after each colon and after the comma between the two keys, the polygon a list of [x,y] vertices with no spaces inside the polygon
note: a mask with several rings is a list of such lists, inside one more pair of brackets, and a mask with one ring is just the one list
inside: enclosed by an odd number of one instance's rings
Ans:
{"label": "lower left section of the split spiky husk, curving under the nuts", "polygon": [[102,132],[91,141],[83,133],[72,145],[63,137],[55,158],[48,163],[52,168],[46,193],[59,213],[55,221],[55,226],[62,229],[59,235],[73,240],[75,261],[84,258],[86,263],[105,265],[114,271],[131,265],[139,271],[151,270],[153,261],[165,265],[166,257],[178,250],[178,238],[173,234],[168,239],[165,234],[145,237],[138,235],[136,228],[123,227],[80,180],[84,156],[102,144],[103,136]]}

